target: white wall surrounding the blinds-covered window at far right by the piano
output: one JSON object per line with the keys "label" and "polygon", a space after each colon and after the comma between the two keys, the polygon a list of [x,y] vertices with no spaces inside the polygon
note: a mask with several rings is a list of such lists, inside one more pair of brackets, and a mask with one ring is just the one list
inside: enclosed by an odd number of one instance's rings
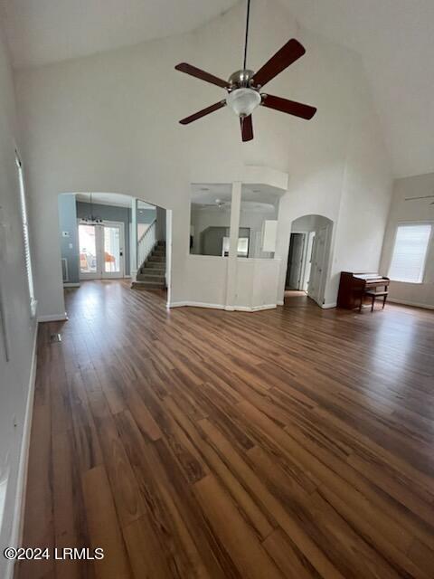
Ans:
{"label": "white wall surrounding the blinds-covered window at far right by the piano", "polygon": [[[406,197],[433,195],[434,173],[396,179],[384,245],[382,249],[383,275],[388,275],[392,261],[393,242],[400,222],[431,222],[434,227],[434,198],[405,201]],[[434,308],[434,235],[427,254],[423,283],[391,281],[390,297],[402,302]]]}

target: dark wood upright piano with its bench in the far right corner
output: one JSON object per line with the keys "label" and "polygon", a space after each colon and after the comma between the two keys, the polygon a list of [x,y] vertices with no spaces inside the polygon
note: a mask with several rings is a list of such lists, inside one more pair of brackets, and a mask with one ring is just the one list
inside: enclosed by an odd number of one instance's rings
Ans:
{"label": "dark wood upright piano with its bench in the far right corner", "polygon": [[379,273],[354,273],[342,271],[337,294],[337,307],[362,310],[368,299],[372,300],[371,311],[376,298],[382,298],[382,307],[386,303],[390,280]]}

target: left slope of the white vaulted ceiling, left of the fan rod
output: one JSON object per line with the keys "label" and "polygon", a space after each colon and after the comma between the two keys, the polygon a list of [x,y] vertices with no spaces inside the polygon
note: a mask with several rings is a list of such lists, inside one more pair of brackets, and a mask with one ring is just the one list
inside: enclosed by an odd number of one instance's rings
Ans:
{"label": "left slope of the white vaulted ceiling, left of the fan rod", "polygon": [[238,0],[0,0],[14,67],[185,33]]}

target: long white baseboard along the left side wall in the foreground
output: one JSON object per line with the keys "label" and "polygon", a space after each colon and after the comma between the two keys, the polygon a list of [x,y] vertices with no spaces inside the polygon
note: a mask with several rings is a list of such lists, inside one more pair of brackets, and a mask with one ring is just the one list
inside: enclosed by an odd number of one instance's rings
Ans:
{"label": "long white baseboard along the left side wall in the foreground", "polygon": [[[18,476],[16,481],[14,523],[10,539],[10,546],[13,546],[15,548],[21,546],[23,540],[25,490],[27,486],[27,467],[29,461],[30,434],[32,432],[34,384],[36,382],[37,339],[38,339],[38,329],[36,326],[33,337],[32,366],[30,369],[27,401],[25,403],[23,438],[21,441],[20,462],[18,465]],[[12,579],[13,577],[14,577],[14,561],[12,560],[6,567],[5,579]]]}

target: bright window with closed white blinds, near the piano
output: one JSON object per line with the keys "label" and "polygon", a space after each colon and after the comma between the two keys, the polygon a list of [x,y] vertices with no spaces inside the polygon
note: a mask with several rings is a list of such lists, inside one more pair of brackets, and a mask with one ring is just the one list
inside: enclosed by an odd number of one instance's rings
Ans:
{"label": "bright window with closed white blinds, near the piano", "polygon": [[391,280],[422,282],[430,235],[430,223],[398,225],[389,270]]}

